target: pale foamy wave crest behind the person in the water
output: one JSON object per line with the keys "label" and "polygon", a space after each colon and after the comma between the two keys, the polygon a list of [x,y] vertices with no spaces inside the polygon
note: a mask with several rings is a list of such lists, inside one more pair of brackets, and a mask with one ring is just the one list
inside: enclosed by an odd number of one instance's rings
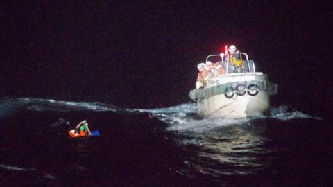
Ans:
{"label": "pale foamy wave crest behind the person in the water", "polygon": [[73,102],[58,101],[41,98],[12,98],[0,100],[0,116],[14,114],[17,109],[29,109],[33,111],[116,111],[116,107],[99,102]]}

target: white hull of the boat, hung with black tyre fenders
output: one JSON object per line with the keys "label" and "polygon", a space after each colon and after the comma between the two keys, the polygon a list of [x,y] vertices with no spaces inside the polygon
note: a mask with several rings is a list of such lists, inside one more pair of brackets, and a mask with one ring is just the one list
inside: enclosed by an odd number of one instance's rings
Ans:
{"label": "white hull of the boat, hung with black tyre fenders", "polygon": [[[239,96],[237,95],[237,89],[235,89],[233,91],[234,96],[231,98],[227,98],[225,92],[214,94],[214,90],[223,84],[230,84],[233,89],[238,84],[247,84],[246,93],[243,96]],[[255,96],[250,96],[248,93],[250,84],[257,84],[260,87],[257,94],[252,94]],[[270,106],[269,95],[275,94],[277,91],[277,88],[270,87],[270,85],[273,84],[269,84],[266,75],[262,73],[234,73],[210,78],[207,82],[207,87],[194,90],[196,94],[193,92],[192,94],[194,95],[191,98],[196,99],[199,115],[246,118],[268,112]]]}

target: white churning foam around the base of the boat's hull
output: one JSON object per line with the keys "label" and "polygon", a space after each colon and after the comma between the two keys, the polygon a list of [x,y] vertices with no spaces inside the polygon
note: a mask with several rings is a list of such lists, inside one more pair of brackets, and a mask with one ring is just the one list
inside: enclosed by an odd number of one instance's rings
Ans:
{"label": "white churning foam around the base of the boat's hull", "polygon": [[228,125],[244,125],[253,120],[274,118],[280,121],[288,121],[297,118],[309,118],[321,120],[321,118],[304,114],[302,112],[290,109],[287,106],[271,107],[271,115],[253,116],[251,118],[201,118],[196,115],[195,103],[185,103],[173,107],[157,108],[157,109],[138,109],[140,112],[149,112],[153,116],[159,118],[169,124],[167,130],[180,132],[212,132],[216,127],[224,127]]}

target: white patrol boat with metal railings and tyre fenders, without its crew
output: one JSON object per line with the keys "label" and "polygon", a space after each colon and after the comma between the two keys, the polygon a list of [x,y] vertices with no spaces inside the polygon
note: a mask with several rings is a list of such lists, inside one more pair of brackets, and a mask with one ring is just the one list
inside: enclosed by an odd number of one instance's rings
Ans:
{"label": "white patrol boat with metal railings and tyre fenders, without its crew", "polygon": [[214,68],[203,87],[189,91],[189,97],[196,100],[199,115],[246,118],[268,112],[269,96],[278,94],[278,85],[269,82],[266,74],[256,72],[255,63],[246,53],[239,56],[242,62],[239,67],[232,65],[229,55],[207,56],[206,64],[210,58],[217,58],[216,64],[225,73],[218,74]]}

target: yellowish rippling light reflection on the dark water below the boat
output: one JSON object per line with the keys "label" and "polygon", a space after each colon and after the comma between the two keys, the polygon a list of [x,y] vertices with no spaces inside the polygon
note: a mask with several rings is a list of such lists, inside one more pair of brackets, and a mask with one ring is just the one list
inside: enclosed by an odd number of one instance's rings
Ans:
{"label": "yellowish rippling light reflection on the dark water below the boat", "polygon": [[[259,135],[261,131],[248,125],[230,125],[220,127],[214,133],[202,134],[202,140],[196,144],[201,147],[196,151],[199,159],[192,160],[192,166],[211,174],[246,174],[266,168],[269,163],[262,160],[267,154],[262,146],[266,138]],[[225,169],[214,170],[214,165]]]}

